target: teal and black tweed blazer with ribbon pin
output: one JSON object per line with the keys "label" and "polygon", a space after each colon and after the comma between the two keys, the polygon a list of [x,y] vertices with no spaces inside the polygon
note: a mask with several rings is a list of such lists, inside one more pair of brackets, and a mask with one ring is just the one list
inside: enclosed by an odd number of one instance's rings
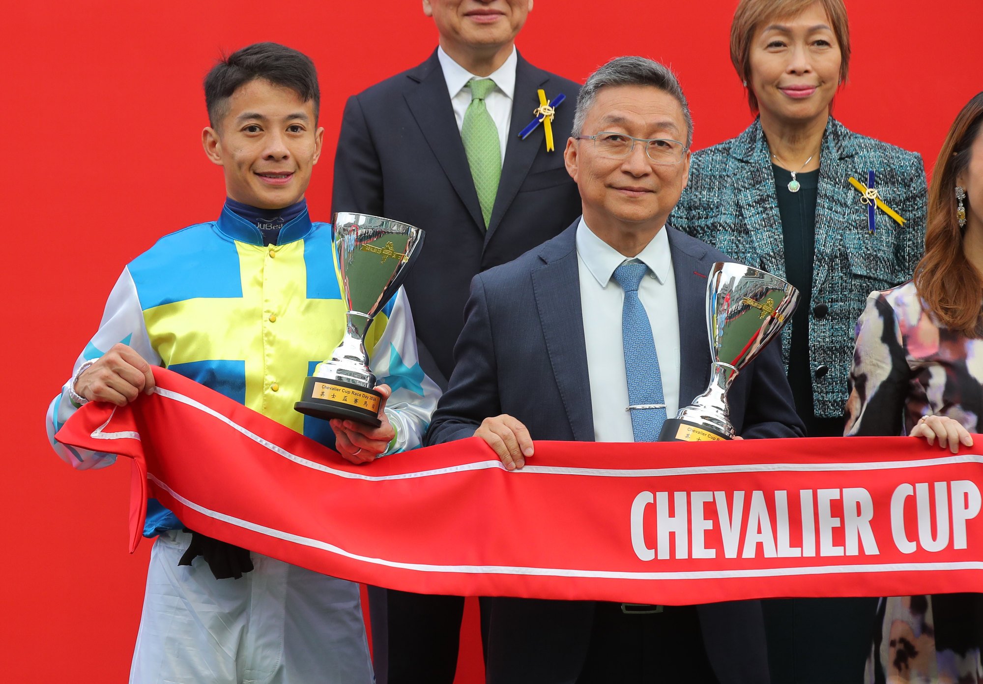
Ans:
{"label": "teal and black tweed blazer with ribbon pin", "polygon": [[[876,230],[868,230],[867,205],[848,179],[866,185],[869,170],[881,198],[906,219],[903,226],[878,209]],[[843,415],[854,323],[872,291],[911,278],[924,249],[925,209],[919,154],[852,133],[830,117],[820,152],[809,314],[817,417]],[[737,138],[693,153],[689,184],[669,221],[735,261],[785,277],[775,176],[759,120]],[[790,332],[788,325],[781,341],[786,368]]]}

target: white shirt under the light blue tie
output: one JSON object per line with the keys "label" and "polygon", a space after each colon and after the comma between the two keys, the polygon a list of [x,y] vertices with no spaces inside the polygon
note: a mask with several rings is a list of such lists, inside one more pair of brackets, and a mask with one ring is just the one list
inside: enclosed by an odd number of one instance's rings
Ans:
{"label": "white shirt under the light blue tie", "polygon": [[638,287],[638,298],[652,323],[663,379],[665,415],[675,418],[679,410],[679,311],[665,227],[631,259],[591,232],[581,218],[577,226],[577,262],[596,441],[635,440],[631,415],[625,411],[629,401],[621,340],[624,291],[611,277],[615,268],[631,260],[649,267]]}

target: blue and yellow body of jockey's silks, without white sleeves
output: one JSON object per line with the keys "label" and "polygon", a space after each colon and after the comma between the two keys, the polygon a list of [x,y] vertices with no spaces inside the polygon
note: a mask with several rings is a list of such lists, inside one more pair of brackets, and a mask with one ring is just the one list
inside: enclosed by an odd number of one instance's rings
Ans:
{"label": "blue and yellow body of jockey's silks, without white sleeves", "polygon": [[[345,330],[331,227],[304,212],[278,243],[263,247],[260,231],[226,208],[216,223],[161,239],[129,268],[163,366],[331,445],[323,421],[294,411],[304,378]],[[391,310],[389,302],[369,329],[370,355]]]}

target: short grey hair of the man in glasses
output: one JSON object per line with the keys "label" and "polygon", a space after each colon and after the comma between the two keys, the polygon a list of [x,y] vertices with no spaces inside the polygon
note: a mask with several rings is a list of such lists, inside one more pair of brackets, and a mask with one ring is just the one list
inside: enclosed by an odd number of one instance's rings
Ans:
{"label": "short grey hair of the man in glasses", "polygon": [[584,120],[587,119],[587,112],[594,106],[598,92],[614,85],[652,85],[675,97],[682,107],[682,117],[686,121],[686,148],[689,149],[693,144],[693,117],[689,113],[689,102],[686,101],[679,80],[668,67],[645,57],[615,57],[587,77],[587,83],[580,88],[580,95],[577,96],[577,110],[573,115],[571,134],[574,138],[583,133]]}

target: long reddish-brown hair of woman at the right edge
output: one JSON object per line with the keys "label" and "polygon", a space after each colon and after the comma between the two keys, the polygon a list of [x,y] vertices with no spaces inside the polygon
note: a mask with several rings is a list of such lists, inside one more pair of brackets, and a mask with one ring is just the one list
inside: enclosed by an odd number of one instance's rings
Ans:
{"label": "long reddish-brown hair of woman at the right edge", "polygon": [[963,230],[955,215],[955,179],[969,166],[971,147],[980,135],[981,125],[983,92],[977,93],[956,115],[939,150],[928,186],[925,255],[915,266],[914,274],[918,294],[938,321],[968,337],[981,333],[983,274],[962,252]]}

